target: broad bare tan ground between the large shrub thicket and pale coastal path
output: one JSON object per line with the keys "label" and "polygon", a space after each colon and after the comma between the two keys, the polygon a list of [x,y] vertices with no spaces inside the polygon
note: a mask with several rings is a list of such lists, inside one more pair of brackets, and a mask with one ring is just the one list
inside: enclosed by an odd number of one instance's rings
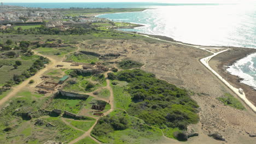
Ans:
{"label": "broad bare tan ground between the large shrub thicket and pale coastal path", "polygon": [[[249,109],[241,111],[224,106],[216,99],[226,92],[234,93],[199,62],[200,58],[210,56],[211,53],[191,46],[140,40],[96,42],[100,45],[88,46],[86,50],[121,53],[121,58],[144,63],[142,69],[156,74],[159,79],[196,93],[192,98],[200,105],[200,123],[193,127],[200,135],[190,138],[188,142],[166,139],[159,143],[255,143],[255,137],[249,137],[246,133],[256,133],[255,113]],[[93,42],[90,41],[90,45]],[[222,61],[221,58],[217,60]],[[207,136],[210,132],[222,134],[226,142]]]}

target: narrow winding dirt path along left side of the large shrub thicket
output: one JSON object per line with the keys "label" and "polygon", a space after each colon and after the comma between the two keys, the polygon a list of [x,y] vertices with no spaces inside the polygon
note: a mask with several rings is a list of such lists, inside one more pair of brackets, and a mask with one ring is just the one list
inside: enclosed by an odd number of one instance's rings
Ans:
{"label": "narrow winding dirt path along left side of the large shrub thicket", "polygon": [[[110,73],[110,71],[107,71],[106,73],[104,73],[104,76],[108,77],[108,73]],[[108,102],[109,102],[109,105],[110,105],[111,108],[107,112],[104,113],[105,116],[107,116],[110,112],[112,112],[114,110],[114,93],[113,93],[113,89],[110,86],[110,80],[106,79],[106,81],[107,81],[107,86],[105,88],[107,88],[109,90],[109,92],[110,92],[110,97],[109,97],[109,101]],[[94,97],[94,96],[92,96],[92,97]],[[77,139],[74,139],[73,141],[69,142],[69,144],[73,144],[75,142],[78,142],[79,140],[83,140],[87,136],[91,137],[92,140],[94,140],[95,142],[101,143],[98,140],[96,140],[94,137],[91,136],[91,131],[92,131],[92,129],[94,129],[95,125],[97,124],[98,119],[99,118],[97,118],[97,120],[94,123],[94,125],[92,125],[92,127],[88,131],[86,131],[83,135],[79,136]]]}

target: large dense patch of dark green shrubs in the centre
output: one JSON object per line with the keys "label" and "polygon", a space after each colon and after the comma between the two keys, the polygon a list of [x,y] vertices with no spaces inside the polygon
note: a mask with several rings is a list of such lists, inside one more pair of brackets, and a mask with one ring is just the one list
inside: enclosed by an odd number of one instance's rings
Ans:
{"label": "large dense patch of dark green shrubs in the centre", "polygon": [[[124,107],[131,116],[138,117],[149,125],[185,130],[188,124],[199,121],[196,114],[199,106],[185,89],[156,79],[154,74],[139,69],[124,70],[108,76],[112,80],[128,82],[127,88],[118,93],[126,91],[130,94],[131,104],[126,102],[129,105]],[[114,88],[115,91],[117,90]]]}

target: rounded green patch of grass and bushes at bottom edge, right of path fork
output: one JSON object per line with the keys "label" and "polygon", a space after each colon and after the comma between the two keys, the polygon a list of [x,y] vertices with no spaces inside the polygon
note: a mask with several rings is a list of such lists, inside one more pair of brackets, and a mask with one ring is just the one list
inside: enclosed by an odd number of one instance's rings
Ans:
{"label": "rounded green patch of grass and bushes at bottom edge, right of path fork", "polygon": [[148,126],[123,110],[100,118],[92,136],[103,143],[152,143],[162,139],[160,129]]}

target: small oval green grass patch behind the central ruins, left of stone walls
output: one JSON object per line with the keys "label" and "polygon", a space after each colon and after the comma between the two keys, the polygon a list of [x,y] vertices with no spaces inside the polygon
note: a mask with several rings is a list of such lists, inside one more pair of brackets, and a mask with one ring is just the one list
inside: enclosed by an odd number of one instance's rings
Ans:
{"label": "small oval green grass patch behind the central ruins, left of stone walls", "polygon": [[79,63],[92,63],[97,62],[98,57],[92,55],[85,55],[83,53],[71,53],[66,56],[66,61],[79,62]]}

